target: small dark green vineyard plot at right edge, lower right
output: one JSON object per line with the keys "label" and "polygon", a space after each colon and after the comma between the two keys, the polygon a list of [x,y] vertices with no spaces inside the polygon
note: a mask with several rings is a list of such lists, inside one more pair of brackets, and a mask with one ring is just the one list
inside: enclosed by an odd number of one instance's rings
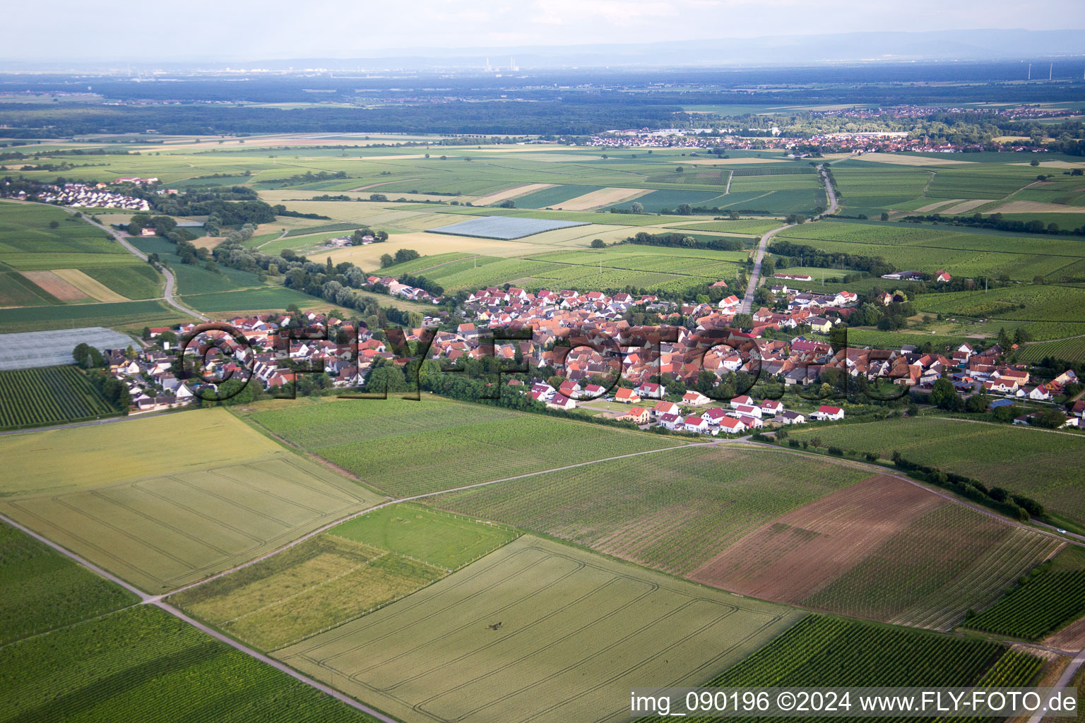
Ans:
{"label": "small dark green vineyard plot at right edge, lower right", "polygon": [[1082,615],[1085,570],[1048,570],[967,620],[965,627],[1035,641]]}

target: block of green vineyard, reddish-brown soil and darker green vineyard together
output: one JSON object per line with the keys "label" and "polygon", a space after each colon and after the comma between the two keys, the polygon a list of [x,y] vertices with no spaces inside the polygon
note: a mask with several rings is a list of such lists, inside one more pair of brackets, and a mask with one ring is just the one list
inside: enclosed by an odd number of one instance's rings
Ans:
{"label": "block of green vineyard, reddish-brown soil and darker green vineyard together", "polygon": [[1058,547],[866,476],[788,452],[689,448],[651,467],[600,463],[432,504],[754,597],[946,630]]}

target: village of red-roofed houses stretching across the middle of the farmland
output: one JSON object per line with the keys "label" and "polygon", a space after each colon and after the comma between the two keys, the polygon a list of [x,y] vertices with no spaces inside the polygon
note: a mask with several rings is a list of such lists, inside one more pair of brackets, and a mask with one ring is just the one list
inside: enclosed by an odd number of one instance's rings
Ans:
{"label": "village of red-roofed houses stretching across the middle of the farmland", "polygon": [[[370,277],[370,283],[384,281]],[[395,284],[388,281],[390,293],[421,291]],[[409,330],[405,338],[423,346],[429,343],[426,357],[439,361],[443,369],[462,369],[470,360],[490,357],[506,367],[519,362],[526,371],[503,373],[509,377],[503,393],[529,396],[549,410],[713,436],[845,417],[846,404],[822,404],[816,395],[792,393],[787,402],[776,393],[776,399],[754,399],[749,392],[755,383],[764,383],[758,389],[824,392],[827,378],[846,384],[861,379],[864,388],[895,390],[871,399],[893,399],[907,398],[909,392],[929,395],[945,378],[965,398],[992,398],[988,411],[1020,405],[1022,413],[1014,415],[1013,423],[1026,425],[1037,414],[1059,409],[1052,401],[1064,386],[1077,382],[1067,371],[1036,383],[1025,365],[1004,363],[1004,352],[1009,350],[997,344],[986,348],[961,344],[944,353],[924,352],[911,345],[898,349],[848,346],[846,336],[833,330],[846,327],[845,320],[857,302],[855,294],[813,294],[784,284],[773,285],[770,291],[779,310],[762,307],[750,315],[751,324],[739,328],[736,317],[741,302],[733,295],[715,305],[678,305],[652,295],[635,298],[626,293],[571,289],[533,294],[492,286],[469,294],[456,320],[426,317],[425,325]],[[655,314],[660,324],[636,326],[629,321],[633,312]],[[200,403],[200,390],[214,392],[216,379],[251,375],[250,384],[277,393],[293,389],[305,374],[298,370],[317,370],[322,379],[319,388],[334,391],[365,387],[378,365],[404,367],[408,362],[395,353],[383,332],[365,325],[356,330],[353,322],[315,312],[295,310],[225,322],[244,335],[247,345],[225,332],[205,332],[204,338],[186,349],[187,356],[204,360],[203,379],[177,376],[177,339],[196,331],[192,323],[148,328],[142,350],[111,352],[108,371],[128,389],[130,413]],[[508,339],[526,330],[529,338]],[[495,340],[497,331],[503,338]],[[214,346],[221,353],[216,354]],[[749,380],[749,388],[736,386],[739,375]],[[1060,426],[1076,427],[1085,414],[1085,401],[1076,402],[1071,411]]]}

